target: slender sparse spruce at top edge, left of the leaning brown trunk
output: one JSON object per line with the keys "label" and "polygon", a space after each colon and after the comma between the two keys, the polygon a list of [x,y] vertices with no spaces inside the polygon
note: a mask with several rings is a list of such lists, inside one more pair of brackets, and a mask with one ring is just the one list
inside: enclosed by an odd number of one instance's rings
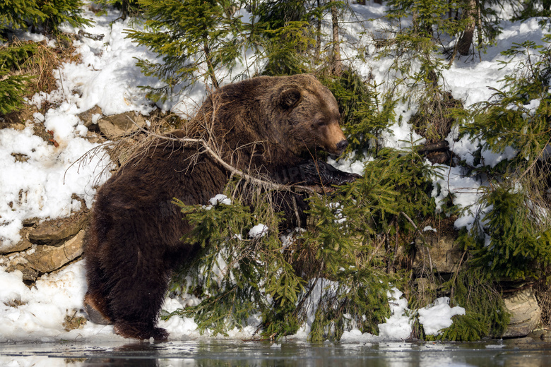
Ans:
{"label": "slender sparse spruce at top edge, left of the leaning brown trunk", "polygon": [[[449,68],[442,57],[441,35],[456,35],[465,22],[449,17],[449,11],[458,11],[458,4],[448,1],[389,1],[387,18],[395,26],[379,57],[392,57],[389,73],[393,76],[395,100],[402,100],[417,109],[409,121],[415,131],[436,143],[446,137],[451,128],[448,119],[456,101],[444,89],[443,71]],[[403,20],[409,19],[405,22]]]}

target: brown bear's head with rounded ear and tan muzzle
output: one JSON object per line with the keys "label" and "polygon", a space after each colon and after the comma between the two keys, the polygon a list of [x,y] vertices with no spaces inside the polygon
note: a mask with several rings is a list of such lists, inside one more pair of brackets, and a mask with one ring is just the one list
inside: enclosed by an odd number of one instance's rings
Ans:
{"label": "brown bear's head with rounded ear and tan muzzle", "polygon": [[337,100],[314,76],[289,77],[277,92],[278,110],[288,133],[285,144],[297,155],[321,148],[341,155],[348,146],[339,126]]}

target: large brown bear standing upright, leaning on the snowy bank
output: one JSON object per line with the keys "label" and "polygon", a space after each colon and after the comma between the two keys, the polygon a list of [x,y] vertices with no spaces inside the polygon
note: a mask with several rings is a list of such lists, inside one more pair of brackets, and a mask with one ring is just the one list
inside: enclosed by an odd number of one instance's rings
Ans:
{"label": "large brown bear standing upright, leaning on the snowy bank", "polygon": [[357,175],[316,160],[318,149],[340,155],[348,145],[339,117],[314,76],[262,76],[216,90],[186,131],[153,140],[95,196],[84,248],[90,320],[123,337],[167,339],[156,323],[171,272],[198,251],[179,240],[190,226],[172,199],[205,205],[231,176],[205,145],[182,138],[202,138],[227,164],[275,183],[340,185]]}

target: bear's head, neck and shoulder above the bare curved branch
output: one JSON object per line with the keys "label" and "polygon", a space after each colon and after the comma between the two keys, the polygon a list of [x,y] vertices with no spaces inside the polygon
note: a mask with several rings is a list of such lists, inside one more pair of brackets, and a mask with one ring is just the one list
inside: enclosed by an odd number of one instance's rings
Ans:
{"label": "bear's head, neck and shoulder above the bare curved branch", "polygon": [[186,130],[218,139],[232,164],[283,164],[317,149],[342,154],[339,119],[335,97],[314,76],[260,76],[216,90]]}

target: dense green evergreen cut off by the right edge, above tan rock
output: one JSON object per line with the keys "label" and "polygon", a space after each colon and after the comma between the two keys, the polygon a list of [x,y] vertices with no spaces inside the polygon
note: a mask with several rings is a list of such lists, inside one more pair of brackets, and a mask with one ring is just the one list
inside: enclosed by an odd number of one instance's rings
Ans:
{"label": "dense green evergreen cut off by the right edge, above tan rock", "polygon": [[461,132],[480,141],[480,150],[516,155],[494,167],[481,161],[476,172],[492,180],[480,199],[477,221],[462,239],[473,251],[473,264],[495,277],[543,277],[551,263],[547,198],[551,141],[551,36],[543,44],[526,41],[503,52],[514,62],[503,90],[477,104]]}

